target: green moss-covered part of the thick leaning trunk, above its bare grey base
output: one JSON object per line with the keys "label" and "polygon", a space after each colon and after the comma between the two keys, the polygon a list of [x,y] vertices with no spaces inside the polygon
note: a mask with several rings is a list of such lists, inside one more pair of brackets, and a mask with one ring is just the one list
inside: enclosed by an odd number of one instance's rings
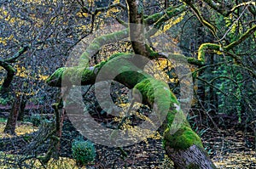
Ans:
{"label": "green moss-covered part of the thick leaning trunk, above its bare grey base", "polygon": [[[56,71],[52,76],[50,76],[48,83],[51,86],[53,86],[53,84],[61,85],[61,77],[63,78],[66,76],[67,78],[73,79],[67,80],[67,84],[70,84],[70,82],[75,82],[76,76],[82,75],[80,78],[82,79],[81,84],[93,84],[96,78],[96,69],[100,69],[102,65],[108,66],[106,76],[108,76],[108,74],[116,74],[117,69],[115,65],[122,65],[118,69],[119,75],[115,77],[115,80],[125,84],[126,87],[136,88],[137,90],[134,91],[139,91],[143,96],[143,104],[148,104],[149,107],[158,110],[158,114],[160,116],[167,115],[167,123],[170,125],[166,125],[165,143],[168,144],[168,146],[172,146],[174,149],[188,149],[193,144],[201,146],[200,138],[198,138],[195,132],[193,132],[189,127],[189,123],[186,122],[183,112],[179,108],[175,95],[170,91],[166,83],[155,80],[153,77],[143,73],[142,70],[129,62],[129,60],[126,60],[125,57],[131,57],[131,55],[122,55],[120,58],[118,56],[113,57],[107,62],[103,62],[101,65],[96,65],[92,70],[80,70],[81,68],[63,68],[64,70]],[[58,84],[52,82],[58,82]],[[137,98],[136,95],[136,92],[133,93],[133,97]],[[172,109],[169,109],[170,105]],[[177,112],[179,115],[179,121],[181,122],[181,124],[179,124],[177,127],[181,127],[181,129],[177,130],[177,134],[172,135],[170,131],[173,130],[171,127],[175,127],[172,126],[172,122],[174,121],[174,117]],[[178,139],[176,139],[177,137]]]}

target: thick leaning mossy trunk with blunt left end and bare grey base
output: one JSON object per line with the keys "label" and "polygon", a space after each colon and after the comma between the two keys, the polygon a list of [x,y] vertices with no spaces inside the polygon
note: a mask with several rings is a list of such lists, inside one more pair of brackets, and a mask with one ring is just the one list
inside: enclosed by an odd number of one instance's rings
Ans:
{"label": "thick leaning mossy trunk with blunt left end and bare grey base", "polygon": [[[137,98],[136,91],[139,91],[142,94],[143,104],[158,110],[158,116],[165,117],[165,119],[159,120],[163,123],[165,130],[164,146],[167,155],[174,161],[176,166],[179,168],[189,168],[190,166],[199,166],[199,168],[211,166],[208,168],[215,168],[207,156],[207,152],[203,149],[201,139],[193,132],[183,115],[183,111],[180,110],[176,96],[166,83],[156,80],[146,73],[142,73],[143,70],[140,70],[129,61],[128,58],[132,57],[136,57],[136,55],[115,54],[107,62],[96,65],[94,68],[84,68],[83,70],[81,68],[76,70],[73,67],[61,68],[56,70],[47,82],[50,86],[60,87],[61,83],[59,82],[63,80],[62,78],[65,78],[67,84],[78,84],[77,79],[81,79],[82,84],[90,85],[95,82],[98,70],[108,63],[106,65],[108,66],[108,72],[106,73],[112,74],[119,71],[118,76],[114,80],[125,84],[126,87],[137,89],[134,90],[133,97]],[[122,65],[122,67],[117,70],[114,65]],[[106,74],[106,76],[108,75]],[[156,97],[157,99],[155,99]],[[170,109],[169,106],[171,107]],[[177,118],[179,121],[177,126],[179,129],[172,125],[174,118]],[[172,133],[173,130],[177,130],[177,132]]]}

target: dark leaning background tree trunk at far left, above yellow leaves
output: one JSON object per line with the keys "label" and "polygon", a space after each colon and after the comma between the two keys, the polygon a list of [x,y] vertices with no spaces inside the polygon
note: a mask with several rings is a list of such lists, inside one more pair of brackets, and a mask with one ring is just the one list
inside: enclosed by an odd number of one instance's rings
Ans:
{"label": "dark leaning background tree trunk at far left, above yellow leaves", "polygon": [[4,132],[15,134],[15,127],[16,127],[16,122],[17,118],[19,115],[19,110],[20,110],[20,95],[16,95],[15,102],[12,105],[12,109],[9,113],[8,121],[6,123],[6,126],[4,128]]}

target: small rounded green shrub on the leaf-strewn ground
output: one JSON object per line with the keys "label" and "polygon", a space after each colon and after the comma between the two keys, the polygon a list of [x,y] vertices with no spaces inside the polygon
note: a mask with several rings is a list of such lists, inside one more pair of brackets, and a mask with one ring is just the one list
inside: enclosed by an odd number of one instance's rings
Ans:
{"label": "small rounded green shrub on the leaf-strewn ground", "polygon": [[78,166],[90,164],[95,160],[96,150],[94,144],[83,139],[74,140],[72,143],[72,155]]}

